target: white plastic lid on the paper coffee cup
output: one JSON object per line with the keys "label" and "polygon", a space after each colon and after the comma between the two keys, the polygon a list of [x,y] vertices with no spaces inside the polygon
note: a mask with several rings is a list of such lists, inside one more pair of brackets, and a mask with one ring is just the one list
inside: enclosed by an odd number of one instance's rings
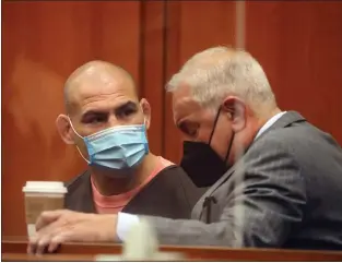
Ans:
{"label": "white plastic lid on the paper coffee cup", "polygon": [[57,181],[27,181],[23,187],[23,192],[39,193],[67,193],[68,190],[63,182]]}

